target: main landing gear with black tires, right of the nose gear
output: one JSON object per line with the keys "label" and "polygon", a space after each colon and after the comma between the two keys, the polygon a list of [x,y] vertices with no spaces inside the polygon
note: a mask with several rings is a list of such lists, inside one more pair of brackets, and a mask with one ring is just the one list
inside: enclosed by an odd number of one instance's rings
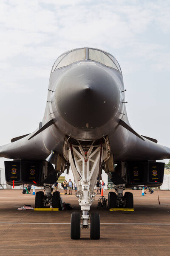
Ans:
{"label": "main landing gear with black tires, right of the nose gear", "polygon": [[115,186],[115,192],[108,193],[108,209],[113,208],[127,208],[133,209],[133,194],[130,192],[125,192],[123,196],[123,190],[125,189],[125,184],[120,184]]}

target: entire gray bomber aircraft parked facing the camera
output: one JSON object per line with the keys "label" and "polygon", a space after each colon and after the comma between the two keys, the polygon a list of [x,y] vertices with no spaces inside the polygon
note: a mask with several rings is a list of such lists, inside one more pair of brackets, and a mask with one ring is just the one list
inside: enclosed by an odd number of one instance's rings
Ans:
{"label": "entire gray bomber aircraft parked facing the camera", "polygon": [[0,157],[14,159],[5,162],[8,184],[44,186],[35,207],[59,207],[60,193],[52,194],[52,184],[71,166],[82,210],[82,215],[71,214],[71,239],[80,239],[81,228],[90,228],[91,239],[100,238],[99,213],[89,211],[102,170],[115,184],[109,209],[133,208],[133,194],[123,194],[125,187],[163,182],[164,163],[156,160],[170,158],[170,148],[133,130],[125,91],[121,68],[110,53],[94,48],[65,52],[52,67],[37,130],[0,147]]}

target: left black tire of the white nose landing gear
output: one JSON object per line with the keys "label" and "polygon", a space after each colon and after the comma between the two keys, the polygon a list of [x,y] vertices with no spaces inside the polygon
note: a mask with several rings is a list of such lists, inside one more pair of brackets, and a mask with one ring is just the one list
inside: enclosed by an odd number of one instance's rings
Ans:
{"label": "left black tire of the white nose landing gear", "polygon": [[80,214],[79,212],[71,213],[71,239],[80,239]]}

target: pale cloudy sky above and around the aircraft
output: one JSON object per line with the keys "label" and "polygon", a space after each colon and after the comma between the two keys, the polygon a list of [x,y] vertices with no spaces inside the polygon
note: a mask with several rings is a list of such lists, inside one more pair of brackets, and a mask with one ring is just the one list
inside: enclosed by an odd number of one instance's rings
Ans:
{"label": "pale cloudy sky above and around the aircraft", "polygon": [[94,47],[121,66],[133,129],[170,147],[169,0],[1,0],[0,35],[0,145],[38,127],[57,57]]}

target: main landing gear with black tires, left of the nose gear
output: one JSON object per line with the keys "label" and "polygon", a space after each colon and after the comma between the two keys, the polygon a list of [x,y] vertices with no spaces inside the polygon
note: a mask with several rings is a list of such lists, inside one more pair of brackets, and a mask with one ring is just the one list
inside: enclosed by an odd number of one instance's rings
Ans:
{"label": "main landing gear with black tires, left of the nose gear", "polygon": [[51,185],[46,185],[44,189],[45,194],[43,191],[38,191],[35,195],[35,208],[43,208],[47,204],[50,204],[51,208],[59,208],[59,191],[55,191],[52,194],[53,189]]}

